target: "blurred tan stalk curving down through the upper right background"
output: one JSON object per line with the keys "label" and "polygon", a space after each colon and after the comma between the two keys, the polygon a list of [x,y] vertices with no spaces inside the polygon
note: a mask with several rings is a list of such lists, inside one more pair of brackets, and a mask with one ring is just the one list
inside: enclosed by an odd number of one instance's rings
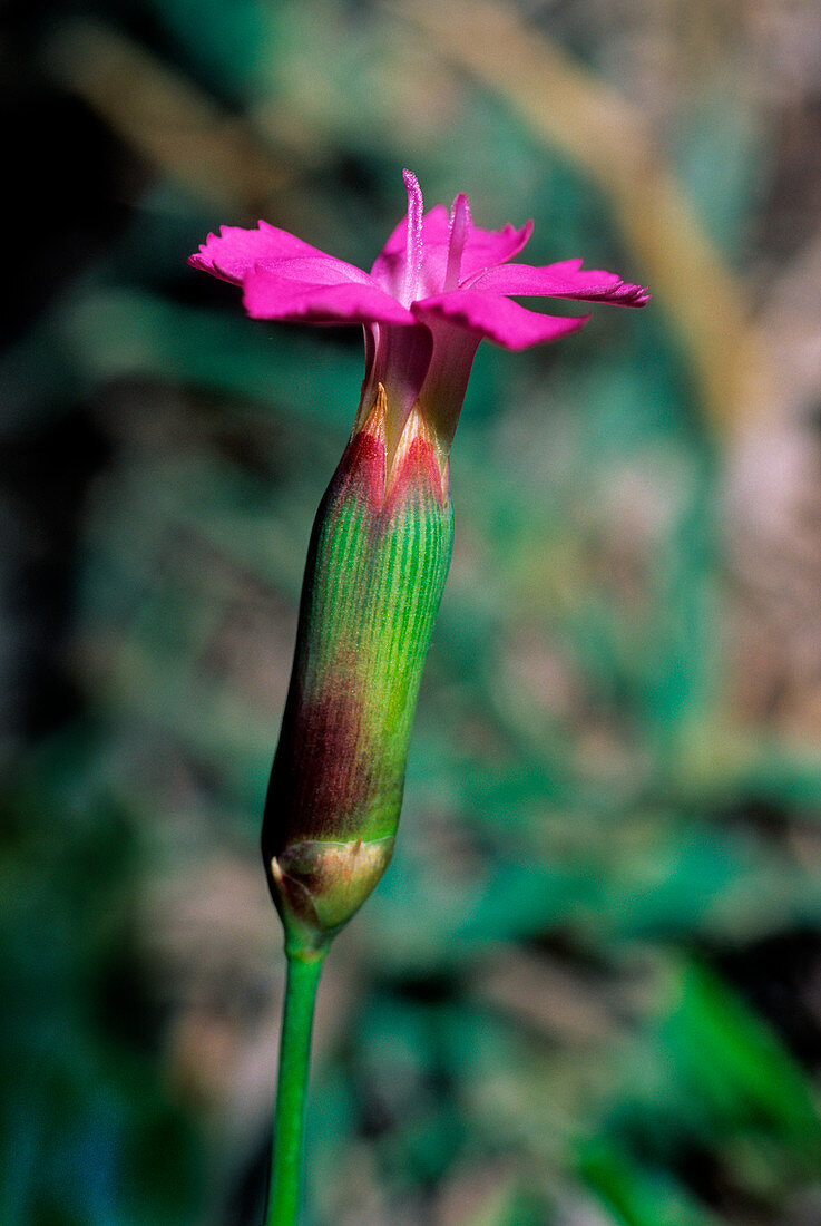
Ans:
{"label": "blurred tan stalk curving down through the upper right background", "polygon": [[576,64],[511,5],[407,0],[392,11],[426,45],[501,94],[547,145],[609,199],[645,280],[692,359],[708,422],[738,432],[772,408],[771,375],[743,288],[703,233],[641,113]]}

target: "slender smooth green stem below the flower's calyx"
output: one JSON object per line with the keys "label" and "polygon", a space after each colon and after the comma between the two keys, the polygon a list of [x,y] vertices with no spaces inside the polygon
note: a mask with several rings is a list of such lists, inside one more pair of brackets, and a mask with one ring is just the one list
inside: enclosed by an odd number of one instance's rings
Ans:
{"label": "slender smooth green stem below the flower's calyx", "polygon": [[297,1226],[314,1002],[325,950],[288,954],[266,1226]]}

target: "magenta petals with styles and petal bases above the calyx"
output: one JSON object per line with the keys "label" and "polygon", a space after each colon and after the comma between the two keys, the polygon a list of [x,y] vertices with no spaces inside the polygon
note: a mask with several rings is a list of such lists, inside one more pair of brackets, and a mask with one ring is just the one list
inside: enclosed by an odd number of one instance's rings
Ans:
{"label": "magenta petals with styles and petal bases above the calyx", "polygon": [[252,230],[223,226],[189,262],[240,284],[255,319],[361,324],[365,379],[354,429],[381,384],[388,451],[418,405],[444,462],[479,341],[524,349],[575,332],[589,319],[542,315],[511,302],[510,294],[622,306],[643,306],[649,294],[613,272],[582,270],[581,260],[545,267],[509,264],[531,237],[532,222],[521,229],[479,229],[463,195],[450,215],[442,205],[423,213],[422,191],[409,170],[404,184],[407,217],[370,273],[262,221]]}

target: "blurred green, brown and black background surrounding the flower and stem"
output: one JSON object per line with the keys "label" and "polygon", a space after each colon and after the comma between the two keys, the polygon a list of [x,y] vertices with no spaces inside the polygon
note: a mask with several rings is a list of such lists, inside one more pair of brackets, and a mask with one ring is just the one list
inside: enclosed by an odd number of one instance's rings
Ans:
{"label": "blurred green, brown and black background surrounding the flower and stem", "polygon": [[369,267],[409,166],[654,298],[479,352],[305,1221],[817,1226],[821,10],[5,16],[0,1221],[260,1220],[257,828],[361,341],[185,259],[263,216]]}

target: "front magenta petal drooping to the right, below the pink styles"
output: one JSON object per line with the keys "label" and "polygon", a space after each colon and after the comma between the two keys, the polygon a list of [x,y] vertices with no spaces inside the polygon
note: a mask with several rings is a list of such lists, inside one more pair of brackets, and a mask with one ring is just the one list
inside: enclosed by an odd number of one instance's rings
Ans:
{"label": "front magenta petal drooping to the right, below the pink styles", "polygon": [[466,329],[473,336],[493,341],[505,349],[526,349],[531,345],[553,341],[567,332],[576,332],[589,315],[567,319],[556,315],[539,315],[518,306],[501,294],[478,289],[456,289],[450,294],[437,294],[412,306],[414,315],[444,319]]}

